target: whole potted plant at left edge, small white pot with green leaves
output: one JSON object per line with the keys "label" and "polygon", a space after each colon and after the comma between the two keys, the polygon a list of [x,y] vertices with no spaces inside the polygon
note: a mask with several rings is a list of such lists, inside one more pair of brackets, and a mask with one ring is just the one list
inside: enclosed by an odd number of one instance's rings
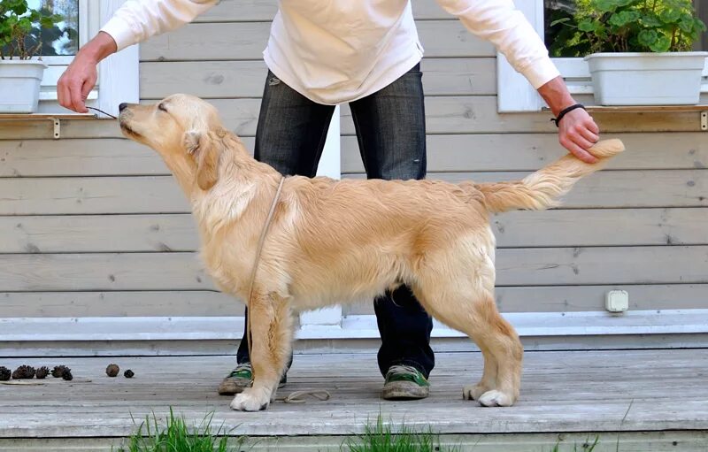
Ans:
{"label": "whole potted plant at left edge, small white pot with green leaves", "polygon": [[27,0],[0,2],[0,113],[34,113],[44,69],[35,55],[42,49],[42,28],[62,17],[30,9]]}

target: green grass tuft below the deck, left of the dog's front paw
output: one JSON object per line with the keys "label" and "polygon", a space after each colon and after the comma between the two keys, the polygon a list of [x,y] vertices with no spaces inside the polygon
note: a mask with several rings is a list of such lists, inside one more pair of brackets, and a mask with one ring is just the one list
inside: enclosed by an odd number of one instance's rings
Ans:
{"label": "green grass tuft below the deck, left of the dog's front paw", "polygon": [[236,448],[229,447],[229,437],[220,425],[215,432],[212,429],[211,413],[202,419],[194,428],[190,428],[184,418],[170,415],[166,425],[159,425],[155,413],[145,417],[145,421],[137,427],[137,431],[127,439],[127,447],[119,448],[117,452],[233,452],[241,446],[244,437],[235,439]]}

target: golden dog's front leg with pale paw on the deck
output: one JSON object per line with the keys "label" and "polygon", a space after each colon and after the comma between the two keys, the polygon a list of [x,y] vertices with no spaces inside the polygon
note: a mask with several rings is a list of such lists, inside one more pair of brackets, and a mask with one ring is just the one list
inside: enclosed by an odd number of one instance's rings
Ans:
{"label": "golden dog's front leg with pale paw on the deck", "polygon": [[266,410],[284,371],[292,346],[289,304],[275,294],[254,294],[249,305],[250,364],[253,386],[236,395],[233,410]]}

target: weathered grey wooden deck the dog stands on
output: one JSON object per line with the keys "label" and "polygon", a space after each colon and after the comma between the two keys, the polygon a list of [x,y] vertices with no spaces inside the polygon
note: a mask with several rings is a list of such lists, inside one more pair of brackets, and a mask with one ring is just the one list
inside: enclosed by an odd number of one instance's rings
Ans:
{"label": "weathered grey wooden deck the dog stands on", "polygon": [[[582,450],[596,434],[596,451],[708,450],[708,349],[527,352],[521,398],[504,409],[461,399],[481,372],[479,353],[436,357],[429,398],[385,402],[375,355],[297,355],[279,395],[321,388],[331,400],[258,413],[231,411],[230,398],[216,394],[233,356],[2,358],[12,368],[66,364],[74,380],[0,385],[0,450],[110,450],[135,422],[169,407],[195,423],[213,411],[216,425],[248,435],[254,450],[339,450],[379,413],[431,425],[463,450],[542,451],[557,441]],[[106,377],[110,363],[135,378]]]}

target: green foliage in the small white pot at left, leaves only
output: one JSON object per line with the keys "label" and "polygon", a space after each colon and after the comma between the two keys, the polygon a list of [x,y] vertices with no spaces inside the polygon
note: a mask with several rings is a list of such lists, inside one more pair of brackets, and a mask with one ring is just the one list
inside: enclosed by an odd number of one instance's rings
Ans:
{"label": "green foliage in the small white pot at left, leaves only", "polygon": [[0,2],[0,59],[29,59],[42,50],[42,29],[52,29],[64,18],[34,10],[27,0]]}

